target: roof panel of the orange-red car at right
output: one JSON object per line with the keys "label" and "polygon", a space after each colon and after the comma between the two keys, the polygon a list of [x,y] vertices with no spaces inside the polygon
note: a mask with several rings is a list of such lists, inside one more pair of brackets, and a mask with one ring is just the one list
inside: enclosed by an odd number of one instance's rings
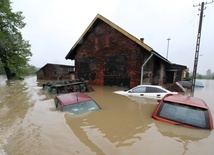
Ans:
{"label": "roof panel of the orange-red car at right", "polygon": [[163,100],[208,109],[208,106],[202,99],[187,95],[170,94],[163,98]]}

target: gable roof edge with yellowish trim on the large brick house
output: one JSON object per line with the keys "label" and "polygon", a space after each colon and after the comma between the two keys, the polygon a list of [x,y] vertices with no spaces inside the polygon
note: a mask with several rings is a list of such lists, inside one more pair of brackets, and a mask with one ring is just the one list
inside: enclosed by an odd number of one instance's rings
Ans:
{"label": "gable roof edge with yellowish trim on the large brick house", "polygon": [[96,24],[100,20],[103,21],[103,22],[105,22],[106,24],[110,25],[111,27],[113,27],[114,29],[116,29],[117,31],[119,31],[120,33],[122,33],[123,35],[125,35],[126,37],[128,37],[129,39],[133,40],[134,42],[136,42],[137,44],[139,44],[140,46],[142,46],[144,49],[146,49],[148,52],[152,51],[152,48],[149,47],[148,45],[146,45],[145,43],[143,43],[141,40],[137,39],[136,37],[134,37],[130,33],[126,32],[125,30],[123,30],[122,28],[120,28],[116,24],[112,23],[110,20],[106,19],[102,15],[97,14],[97,16],[93,19],[93,21],[90,23],[90,25],[84,31],[84,33],[80,36],[80,38],[74,44],[74,46],[70,49],[70,51],[66,55],[65,59],[72,59],[72,60],[74,59],[74,56],[76,55],[76,49],[79,46],[81,46],[82,42],[84,41],[84,38],[86,38],[88,36],[88,34],[91,32],[91,30],[96,26]]}

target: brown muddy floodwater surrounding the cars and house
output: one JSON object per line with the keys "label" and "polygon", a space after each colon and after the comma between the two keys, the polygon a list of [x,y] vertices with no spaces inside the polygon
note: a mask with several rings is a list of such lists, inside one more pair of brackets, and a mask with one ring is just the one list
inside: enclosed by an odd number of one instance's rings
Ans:
{"label": "brown muddy floodwater surrounding the cars and house", "polygon": [[[214,80],[200,80],[194,96],[214,116]],[[41,82],[41,81],[39,81]],[[0,76],[0,155],[201,155],[214,154],[214,132],[158,122],[156,100],[115,94],[92,86],[87,93],[101,110],[74,116],[55,110],[54,96],[35,76],[6,81]]]}

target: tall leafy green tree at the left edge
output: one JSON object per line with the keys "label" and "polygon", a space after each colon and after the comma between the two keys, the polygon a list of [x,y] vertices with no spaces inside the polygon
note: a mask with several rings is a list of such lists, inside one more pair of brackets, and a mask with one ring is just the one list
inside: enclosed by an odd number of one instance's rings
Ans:
{"label": "tall leafy green tree at the left edge", "polygon": [[7,79],[21,76],[32,56],[30,44],[22,38],[22,12],[12,12],[10,0],[0,1],[0,61]]}

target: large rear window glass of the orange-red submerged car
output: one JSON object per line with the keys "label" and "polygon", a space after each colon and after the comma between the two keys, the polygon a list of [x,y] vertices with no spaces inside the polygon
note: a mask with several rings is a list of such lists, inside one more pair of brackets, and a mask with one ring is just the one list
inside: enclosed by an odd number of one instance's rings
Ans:
{"label": "large rear window glass of the orange-red submerged car", "polygon": [[157,115],[181,124],[210,129],[208,111],[206,109],[164,102]]}

